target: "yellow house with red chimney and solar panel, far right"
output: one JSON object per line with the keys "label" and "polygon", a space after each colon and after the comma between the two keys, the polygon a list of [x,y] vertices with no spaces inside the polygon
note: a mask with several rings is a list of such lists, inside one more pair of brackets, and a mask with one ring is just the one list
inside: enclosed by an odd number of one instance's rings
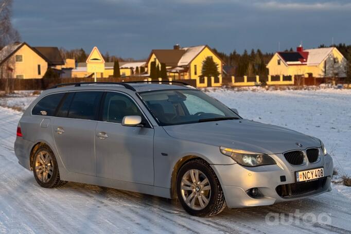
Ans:
{"label": "yellow house with red chimney and solar panel, far right", "polygon": [[344,77],[346,59],[336,47],[276,52],[267,64],[269,75]]}

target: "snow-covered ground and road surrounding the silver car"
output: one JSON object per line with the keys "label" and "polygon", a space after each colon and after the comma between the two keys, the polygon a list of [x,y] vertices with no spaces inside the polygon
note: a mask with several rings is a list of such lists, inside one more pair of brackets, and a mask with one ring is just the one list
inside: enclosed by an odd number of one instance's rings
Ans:
{"label": "snow-covered ground and road surrounding the silver car", "polygon": [[[339,173],[351,174],[351,91],[208,94],[244,118],[321,138]],[[30,99],[23,101],[26,106]],[[351,189],[343,185],[309,199],[226,209],[210,218],[191,217],[178,202],[139,193],[78,183],[44,189],[14,156],[21,114],[0,107],[0,233],[351,233]]]}

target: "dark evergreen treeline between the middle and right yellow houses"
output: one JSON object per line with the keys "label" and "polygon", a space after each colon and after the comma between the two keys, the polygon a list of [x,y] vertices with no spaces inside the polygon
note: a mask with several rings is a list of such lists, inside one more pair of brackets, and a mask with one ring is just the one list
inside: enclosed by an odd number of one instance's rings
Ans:
{"label": "dark evergreen treeline between the middle and right yellow houses", "polygon": [[229,66],[229,69],[227,69],[228,75],[235,76],[267,76],[268,69],[266,64],[273,57],[273,53],[262,53],[260,49],[256,51],[252,49],[250,54],[245,49],[241,55],[236,50],[229,55],[216,49],[214,51],[224,61],[226,66]]}

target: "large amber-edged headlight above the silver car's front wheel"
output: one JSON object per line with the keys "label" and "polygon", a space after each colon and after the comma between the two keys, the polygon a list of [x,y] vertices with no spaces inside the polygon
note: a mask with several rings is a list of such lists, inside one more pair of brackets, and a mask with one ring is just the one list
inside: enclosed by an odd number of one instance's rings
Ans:
{"label": "large amber-edged headlight above the silver car's front wheel", "polygon": [[243,150],[234,150],[231,148],[220,147],[222,154],[234,159],[238,164],[245,167],[257,167],[263,165],[276,164],[273,158],[267,154],[248,152]]}

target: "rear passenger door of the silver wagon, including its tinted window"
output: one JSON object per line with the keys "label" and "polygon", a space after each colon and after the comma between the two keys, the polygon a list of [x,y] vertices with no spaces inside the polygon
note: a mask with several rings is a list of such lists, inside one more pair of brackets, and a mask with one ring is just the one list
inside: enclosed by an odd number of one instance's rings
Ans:
{"label": "rear passenger door of the silver wagon, including its tinted window", "polygon": [[96,175],[94,140],[102,94],[68,93],[54,118],[52,130],[57,151],[68,171]]}

